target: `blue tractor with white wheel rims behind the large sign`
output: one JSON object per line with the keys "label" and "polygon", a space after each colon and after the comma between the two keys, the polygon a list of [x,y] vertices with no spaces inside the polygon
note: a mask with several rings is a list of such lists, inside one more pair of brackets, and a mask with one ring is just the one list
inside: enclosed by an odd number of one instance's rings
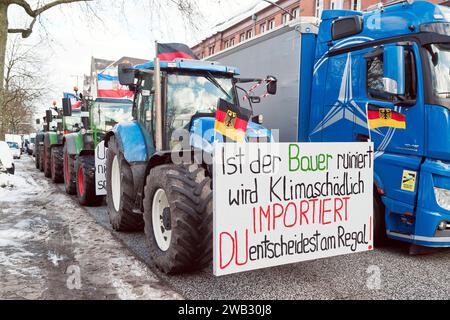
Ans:
{"label": "blue tractor with white wheel rims behind the large sign", "polygon": [[[145,230],[163,272],[194,271],[211,262],[210,159],[213,144],[224,141],[214,131],[217,105],[243,107],[245,101],[252,108],[261,97],[243,88],[249,83],[267,83],[266,95],[276,94],[274,77],[238,74],[233,67],[183,59],[119,66],[120,83],[135,92],[134,121],[116,125],[105,139],[109,217],[117,231]],[[261,117],[251,117],[246,142],[271,141],[261,124]]]}

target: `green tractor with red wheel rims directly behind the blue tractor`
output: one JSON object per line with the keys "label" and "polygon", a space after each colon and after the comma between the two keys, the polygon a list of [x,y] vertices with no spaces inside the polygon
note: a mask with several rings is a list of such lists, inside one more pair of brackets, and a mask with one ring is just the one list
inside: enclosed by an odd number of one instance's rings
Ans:
{"label": "green tractor with red wheel rims directly behind the blue tractor", "polygon": [[[81,102],[81,130],[64,135],[63,180],[68,194],[77,195],[84,206],[98,206],[106,195],[106,149],[103,139],[121,122],[132,119],[132,101],[127,99],[85,99]],[[73,112],[72,100],[63,99],[65,116]]]}

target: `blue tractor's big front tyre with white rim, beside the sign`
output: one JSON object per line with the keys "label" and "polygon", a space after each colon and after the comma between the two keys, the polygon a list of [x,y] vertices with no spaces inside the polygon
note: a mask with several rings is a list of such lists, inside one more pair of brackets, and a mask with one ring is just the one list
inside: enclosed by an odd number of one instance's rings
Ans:
{"label": "blue tractor's big front tyre with white rim, beside the sign", "polygon": [[163,272],[207,267],[212,260],[211,179],[198,165],[162,165],[150,171],[144,196],[150,255]]}

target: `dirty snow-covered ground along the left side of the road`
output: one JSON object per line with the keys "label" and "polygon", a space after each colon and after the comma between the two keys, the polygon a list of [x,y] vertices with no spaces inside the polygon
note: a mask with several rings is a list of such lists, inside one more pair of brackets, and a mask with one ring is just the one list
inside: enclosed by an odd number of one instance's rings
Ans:
{"label": "dirty snow-covered ground along the left side of the road", "polygon": [[31,158],[0,174],[0,299],[181,298]]}

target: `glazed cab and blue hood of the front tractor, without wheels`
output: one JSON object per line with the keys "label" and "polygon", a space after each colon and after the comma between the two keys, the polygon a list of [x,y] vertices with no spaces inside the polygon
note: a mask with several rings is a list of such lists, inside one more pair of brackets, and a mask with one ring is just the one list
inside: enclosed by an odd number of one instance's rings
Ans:
{"label": "glazed cab and blue hood of the front tractor, without wheels", "polygon": [[[185,147],[211,152],[214,141],[224,141],[223,136],[214,132],[220,101],[250,109],[253,115],[253,105],[261,100],[254,95],[257,87],[267,83],[265,95],[276,93],[274,77],[239,79],[238,74],[239,70],[234,67],[184,59],[161,61],[159,68],[155,68],[153,61],[134,68],[119,66],[119,81],[135,91],[133,117],[150,133],[152,139],[148,148],[156,147],[158,151],[173,150],[184,141],[189,142]],[[245,84],[249,83],[253,86],[245,89]],[[159,100],[160,123],[157,121]],[[262,117],[253,116],[250,120],[245,141],[270,141],[271,132],[262,126]]]}

